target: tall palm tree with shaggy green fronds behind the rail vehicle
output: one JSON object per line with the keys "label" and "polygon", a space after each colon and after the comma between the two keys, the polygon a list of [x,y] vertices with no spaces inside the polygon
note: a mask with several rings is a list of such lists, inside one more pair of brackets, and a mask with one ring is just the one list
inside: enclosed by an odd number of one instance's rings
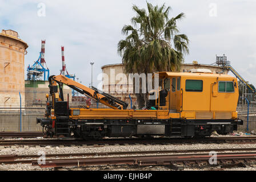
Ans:
{"label": "tall palm tree with shaggy green fronds behind the rail vehicle", "polygon": [[[125,40],[118,42],[118,53],[122,56],[125,73],[153,73],[157,71],[179,71],[183,55],[189,53],[189,39],[179,34],[177,21],[183,13],[169,18],[170,7],[153,6],[147,2],[147,11],[133,6],[137,13],[131,25],[122,28]],[[139,107],[145,105],[145,94],[138,94]]]}

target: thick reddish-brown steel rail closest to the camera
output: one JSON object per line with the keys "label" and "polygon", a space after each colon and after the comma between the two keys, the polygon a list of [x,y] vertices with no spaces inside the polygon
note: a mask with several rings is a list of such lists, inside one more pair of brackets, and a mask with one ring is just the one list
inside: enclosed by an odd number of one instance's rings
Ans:
{"label": "thick reddish-brown steel rail closest to the camera", "polygon": [[[87,158],[87,159],[65,159],[65,160],[47,160],[45,164],[32,162],[32,166],[46,167],[71,167],[71,166],[99,166],[99,165],[136,165],[136,166],[153,166],[153,165],[170,165],[175,163],[182,164],[209,164],[211,155],[162,155],[162,156],[129,156],[129,157],[112,157],[112,158]],[[246,154],[219,154],[217,162],[231,163],[249,162],[256,160],[256,153]]]}

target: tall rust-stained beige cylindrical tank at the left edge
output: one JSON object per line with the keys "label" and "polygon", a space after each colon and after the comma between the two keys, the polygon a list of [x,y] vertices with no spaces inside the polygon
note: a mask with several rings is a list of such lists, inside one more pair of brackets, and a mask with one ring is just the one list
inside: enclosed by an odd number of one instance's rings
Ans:
{"label": "tall rust-stained beige cylindrical tank at the left edge", "polygon": [[[13,30],[0,33],[0,107],[22,107],[25,103],[24,57],[27,43]],[[1,109],[2,110],[2,109]],[[9,109],[5,109],[9,110]],[[14,110],[14,109],[11,109]]]}

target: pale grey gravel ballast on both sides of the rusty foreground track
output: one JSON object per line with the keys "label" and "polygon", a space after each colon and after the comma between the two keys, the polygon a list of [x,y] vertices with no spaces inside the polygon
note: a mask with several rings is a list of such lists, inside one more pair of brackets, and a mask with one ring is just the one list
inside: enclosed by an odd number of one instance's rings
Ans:
{"label": "pale grey gravel ballast on both sides of the rusty foreground track", "polygon": [[[124,152],[124,151],[156,151],[156,150],[197,150],[211,148],[256,148],[256,144],[169,144],[150,145],[143,144],[129,146],[72,146],[72,147],[29,147],[12,146],[0,148],[0,155],[37,155],[38,152],[45,154],[74,154],[74,153],[97,153],[97,152]],[[72,167],[69,170],[171,170],[165,166],[134,167],[134,166],[108,166],[108,167]],[[210,168],[185,167],[184,170],[209,170]],[[230,168],[228,170],[256,170],[254,166],[246,168]],[[27,171],[27,170],[53,170],[53,168],[40,168],[31,164],[0,164],[0,170]],[[225,169],[227,170],[227,169]]]}

